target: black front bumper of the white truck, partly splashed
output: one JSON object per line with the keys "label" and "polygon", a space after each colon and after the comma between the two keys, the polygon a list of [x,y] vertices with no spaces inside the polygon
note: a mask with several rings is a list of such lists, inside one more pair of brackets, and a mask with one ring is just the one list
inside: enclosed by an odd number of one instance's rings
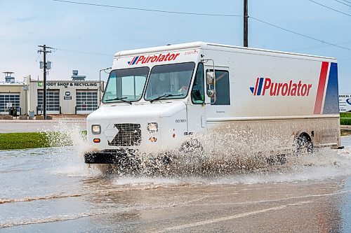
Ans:
{"label": "black front bumper of the white truck, partly splashed", "polygon": [[119,149],[119,150],[100,150],[84,153],[86,164],[125,164],[133,162],[135,158],[135,150]]}

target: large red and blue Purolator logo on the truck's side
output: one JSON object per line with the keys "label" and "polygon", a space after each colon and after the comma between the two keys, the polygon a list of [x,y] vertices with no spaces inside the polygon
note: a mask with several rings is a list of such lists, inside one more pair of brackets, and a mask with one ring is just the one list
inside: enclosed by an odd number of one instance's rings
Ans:
{"label": "large red and blue Purolator logo on the truck's side", "polygon": [[289,83],[273,83],[270,78],[257,78],[255,87],[250,87],[250,90],[253,95],[305,97],[310,94],[311,87],[312,84],[302,83],[301,80],[298,83],[293,83],[293,80],[289,80]]}

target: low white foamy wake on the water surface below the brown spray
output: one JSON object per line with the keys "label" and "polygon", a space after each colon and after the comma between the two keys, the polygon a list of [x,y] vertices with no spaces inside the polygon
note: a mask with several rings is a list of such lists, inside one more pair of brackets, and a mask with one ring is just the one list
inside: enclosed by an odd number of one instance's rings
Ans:
{"label": "low white foamy wake on the water surface below the brown spray", "polygon": [[[219,160],[218,160],[219,162]],[[229,167],[229,165],[228,165]],[[235,168],[235,164],[233,169]],[[199,170],[198,170],[199,171]],[[204,173],[193,171],[168,174],[114,174],[114,185],[142,189],[168,188],[178,185],[236,185],[324,181],[351,176],[351,150],[321,148],[313,155],[297,157],[284,165],[221,173],[218,168]]]}

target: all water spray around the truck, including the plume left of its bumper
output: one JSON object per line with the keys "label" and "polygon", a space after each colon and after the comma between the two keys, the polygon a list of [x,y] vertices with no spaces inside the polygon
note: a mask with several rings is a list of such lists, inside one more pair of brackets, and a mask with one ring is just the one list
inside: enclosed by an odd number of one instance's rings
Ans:
{"label": "all water spray around the truck, including the plume left of its bumper", "polygon": [[331,177],[333,174],[347,175],[347,172],[351,171],[350,148],[338,150],[338,153],[330,148],[322,148],[314,150],[312,155],[297,157],[282,150],[277,156],[277,148],[289,144],[289,141],[277,132],[262,137],[250,129],[227,128],[222,132],[195,135],[185,141],[178,150],[152,153],[145,148],[137,155],[127,155],[119,164],[91,166],[84,164],[83,155],[88,150],[88,144],[79,132],[78,125],[68,126],[67,122],[62,120],[53,125],[47,135],[51,146],[73,146],[71,162],[67,163],[65,168],[60,168],[60,173],[72,176],[94,174],[119,178],[177,179],[245,176],[250,177],[250,182],[260,182],[269,181],[275,176],[280,177],[279,174],[303,179],[303,176],[311,177],[316,169],[322,172],[320,178]]}

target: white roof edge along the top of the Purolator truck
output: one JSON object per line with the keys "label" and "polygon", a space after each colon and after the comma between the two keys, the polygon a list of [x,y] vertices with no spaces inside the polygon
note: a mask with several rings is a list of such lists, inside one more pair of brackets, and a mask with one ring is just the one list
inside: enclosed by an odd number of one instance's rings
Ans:
{"label": "white roof edge along the top of the Purolator truck", "polygon": [[293,56],[303,56],[303,57],[310,57],[310,58],[317,58],[317,59],[336,59],[333,57],[324,57],[324,56],[317,56],[317,55],[306,55],[301,53],[294,53],[294,52],[283,52],[277,50],[265,50],[260,48],[248,48],[248,47],[241,47],[241,46],[234,46],[234,45],[225,45],[220,43],[208,43],[203,41],[191,42],[191,43],[179,43],[174,45],[163,45],[157,47],[150,47],[150,48],[140,48],[135,50],[124,50],[117,52],[114,57],[125,57],[131,56],[135,54],[147,54],[153,52],[163,52],[163,51],[170,51],[170,50],[187,50],[187,49],[196,49],[196,48],[203,48],[203,49],[213,49],[213,50],[241,50],[242,52],[245,51],[256,51],[256,52],[270,52],[276,53],[281,55],[293,55]]}

